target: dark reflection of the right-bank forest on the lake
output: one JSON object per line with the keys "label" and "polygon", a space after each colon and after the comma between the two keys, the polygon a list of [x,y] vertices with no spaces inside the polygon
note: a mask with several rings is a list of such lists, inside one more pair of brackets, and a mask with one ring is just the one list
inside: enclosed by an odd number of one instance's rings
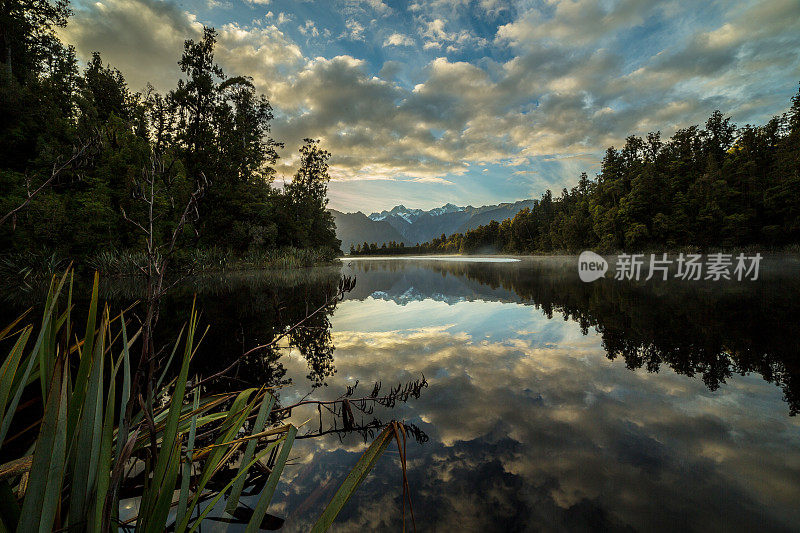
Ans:
{"label": "dark reflection of the right-bank forest on the lake", "polygon": [[[402,282],[383,287],[382,274],[400,261],[354,261],[361,288],[399,298],[426,284],[454,301],[475,299],[533,305],[548,317],[595,329],[611,360],[657,372],[662,365],[700,377],[716,390],[734,374],[756,372],[781,387],[790,414],[800,412],[800,340],[792,317],[800,311],[800,280],[793,270],[769,266],[757,282],[583,283],[574,258],[486,265],[474,262],[406,262]],[[434,275],[425,275],[425,272]],[[416,273],[416,275],[415,275]],[[456,281],[460,280],[460,283]],[[396,281],[396,280],[395,280]],[[361,292],[357,295],[366,297]]]}

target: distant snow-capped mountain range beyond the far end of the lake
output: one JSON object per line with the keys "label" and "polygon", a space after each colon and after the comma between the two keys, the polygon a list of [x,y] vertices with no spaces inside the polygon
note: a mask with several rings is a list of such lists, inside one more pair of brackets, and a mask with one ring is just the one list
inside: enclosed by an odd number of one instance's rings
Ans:
{"label": "distant snow-capped mountain range beyond the far end of the lake", "polygon": [[502,222],[513,218],[519,211],[532,207],[535,200],[485,205],[481,207],[459,207],[445,204],[428,211],[409,209],[403,205],[388,211],[365,215],[362,212],[342,213],[331,209],[336,221],[336,236],[342,241],[342,250],[363,242],[402,242],[407,246],[423,243],[442,234],[462,233],[492,220]]}

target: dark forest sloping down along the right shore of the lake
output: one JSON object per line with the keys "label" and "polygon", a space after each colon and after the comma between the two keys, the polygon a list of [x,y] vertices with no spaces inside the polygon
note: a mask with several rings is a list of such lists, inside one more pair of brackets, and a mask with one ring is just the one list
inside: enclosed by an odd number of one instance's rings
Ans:
{"label": "dark forest sloping down along the right shore of the lake", "polygon": [[800,92],[763,126],[737,128],[715,111],[705,128],[630,136],[609,148],[595,179],[560,197],[423,244],[364,243],[353,255],[543,253],[800,243]]}

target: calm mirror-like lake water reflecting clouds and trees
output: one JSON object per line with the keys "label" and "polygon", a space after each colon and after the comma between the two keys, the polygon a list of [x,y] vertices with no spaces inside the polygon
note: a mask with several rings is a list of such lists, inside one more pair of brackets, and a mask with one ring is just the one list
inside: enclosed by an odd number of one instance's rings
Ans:
{"label": "calm mirror-like lake water reflecting clouds and trees", "polygon": [[[575,258],[345,259],[197,280],[161,327],[174,332],[199,292],[207,374],[356,276],[344,301],[218,386],[291,382],[289,405],[424,375],[419,398],[363,416],[424,433],[408,445],[419,531],[798,530],[800,261],[762,268],[755,282],[585,284]],[[318,416],[292,420],[311,419],[303,435]],[[355,433],[296,442],[270,509],[283,530],[308,530],[365,446]],[[392,446],[334,530],[398,530],[401,495]]]}

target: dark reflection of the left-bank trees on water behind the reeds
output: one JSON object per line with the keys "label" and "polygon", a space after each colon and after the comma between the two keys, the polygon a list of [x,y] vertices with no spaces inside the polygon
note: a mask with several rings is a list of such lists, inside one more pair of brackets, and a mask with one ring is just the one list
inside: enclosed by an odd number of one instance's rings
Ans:
{"label": "dark reflection of the left-bank trees on water behind the reeds", "polygon": [[[180,311],[197,294],[203,319],[210,325],[196,356],[201,375],[211,375],[239,360],[236,371],[217,386],[225,388],[226,380],[247,386],[286,384],[281,356],[288,345],[305,358],[307,377],[318,387],[336,372],[330,317],[337,305],[334,296],[339,280],[339,270],[334,268],[201,277],[181,287],[166,303],[162,316],[176,321],[164,327],[177,331]],[[317,309],[319,312],[312,313]],[[253,347],[270,344],[300,321],[303,323],[277,346],[243,355]]]}

